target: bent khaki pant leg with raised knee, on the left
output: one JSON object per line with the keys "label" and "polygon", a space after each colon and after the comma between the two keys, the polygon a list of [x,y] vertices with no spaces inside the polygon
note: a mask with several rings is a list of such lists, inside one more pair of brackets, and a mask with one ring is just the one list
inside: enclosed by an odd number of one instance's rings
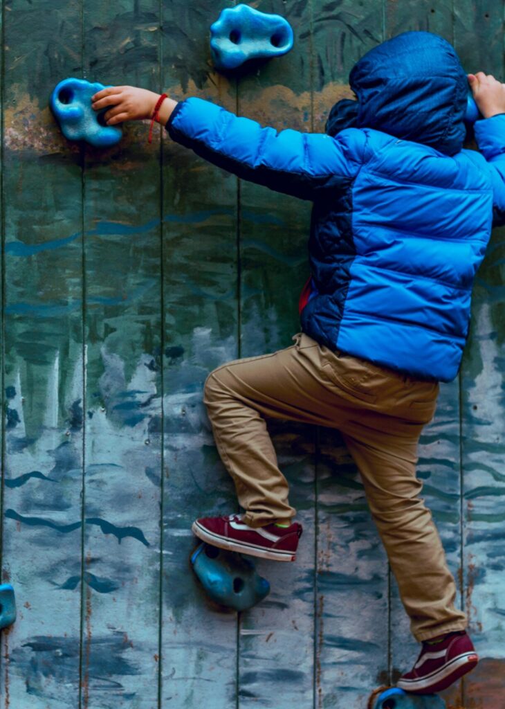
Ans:
{"label": "bent khaki pant leg with raised knee, on the left", "polygon": [[307,335],[295,339],[285,350],[225,364],[205,382],[217,450],[251,527],[296,512],[264,417],[339,428],[346,416],[346,400],[322,374],[322,348]]}

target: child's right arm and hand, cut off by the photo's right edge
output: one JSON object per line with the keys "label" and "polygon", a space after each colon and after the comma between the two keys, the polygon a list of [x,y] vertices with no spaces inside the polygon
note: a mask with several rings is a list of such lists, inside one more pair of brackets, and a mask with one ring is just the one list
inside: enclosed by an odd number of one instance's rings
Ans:
{"label": "child's right arm and hand, cut off by the photo's right edge", "polygon": [[468,74],[484,119],[475,123],[475,140],[491,167],[495,225],[505,224],[505,84],[491,74]]}

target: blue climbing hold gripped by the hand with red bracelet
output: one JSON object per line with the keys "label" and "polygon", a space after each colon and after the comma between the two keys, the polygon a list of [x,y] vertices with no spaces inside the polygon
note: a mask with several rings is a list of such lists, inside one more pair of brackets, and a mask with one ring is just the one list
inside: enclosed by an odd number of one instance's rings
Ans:
{"label": "blue climbing hold gripped by the hand with red bracelet", "polygon": [[95,147],[110,147],[121,140],[121,128],[103,121],[103,113],[110,106],[102,111],[91,108],[91,96],[105,88],[103,84],[91,84],[84,79],[64,79],[55,86],[51,108],[65,138],[86,140]]}

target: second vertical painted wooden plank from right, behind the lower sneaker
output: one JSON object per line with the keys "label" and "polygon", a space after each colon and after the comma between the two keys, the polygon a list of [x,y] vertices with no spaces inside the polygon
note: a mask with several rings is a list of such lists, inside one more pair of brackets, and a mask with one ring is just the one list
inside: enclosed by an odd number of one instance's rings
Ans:
{"label": "second vertical painted wooden plank from right, behind the lower sneaker", "polygon": [[[452,0],[433,3],[430,0],[399,4],[386,3],[387,38],[407,30],[434,32],[453,43]],[[436,415],[424,429],[419,445],[417,476],[424,482],[423,497],[433,513],[450,571],[460,590],[461,527],[460,527],[460,382],[442,384]],[[456,605],[460,607],[460,595]],[[391,588],[391,676],[395,682],[409,671],[419,654],[419,644],[410,632],[410,623],[399,600],[397,584],[392,577]],[[456,701],[459,686],[446,693],[449,702]]]}

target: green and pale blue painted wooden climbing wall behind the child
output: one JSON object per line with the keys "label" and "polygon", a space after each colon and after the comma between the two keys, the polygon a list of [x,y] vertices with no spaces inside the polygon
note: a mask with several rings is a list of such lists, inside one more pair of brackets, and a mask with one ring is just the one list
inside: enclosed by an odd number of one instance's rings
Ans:
{"label": "green and pale blue painted wooden climbing wall behind the child", "polygon": [[[228,79],[222,0],[4,0],[1,54],[1,709],[360,709],[417,652],[339,436],[272,427],[305,524],[271,595],[212,607],[188,567],[197,515],[236,501],[202,405],[210,369],[290,345],[309,206],[205,164],[147,125],[106,152],[67,143],[59,80],[202,96],[322,131],[353,62],[432,30],[504,79],[503,0],[257,0],[295,48]],[[460,376],[419,476],[482,657],[451,709],[505,704],[504,232],[475,286]]]}

